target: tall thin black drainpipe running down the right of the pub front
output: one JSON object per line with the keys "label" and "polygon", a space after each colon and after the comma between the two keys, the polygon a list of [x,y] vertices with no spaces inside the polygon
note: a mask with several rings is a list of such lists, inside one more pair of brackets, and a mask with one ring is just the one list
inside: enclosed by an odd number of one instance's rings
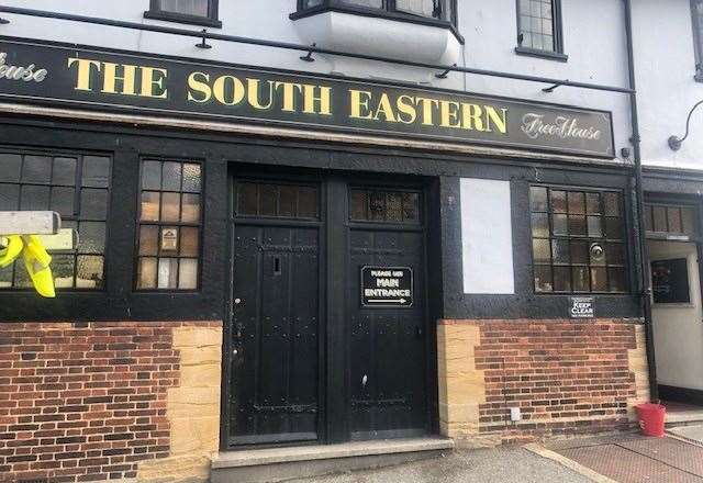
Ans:
{"label": "tall thin black drainpipe running down the right of the pub front", "polygon": [[649,393],[650,400],[659,398],[659,390],[657,387],[657,366],[655,362],[655,344],[651,322],[651,283],[649,274],[649,248],[646,239],[645,225],[645,193],[643,188],[641,173],[641,146],[639,137],[639,115],[637,111],[637,82],[635,76],[635,48],[633,46],[633,10],[632,0],[625,1],[625,31],[627,36],[627,67],[629,74],[629,88],[633,92],[629,94],[631,117],[633,125],[633,154],[635,157],[635,232],[639,243],[639,255],[641,258],[641,267],[639,270],[640,278],[638,280],[637,293],[641,303],[643,313],[645,315],[645,339],[647,346],[647,366],[649,368]]}

